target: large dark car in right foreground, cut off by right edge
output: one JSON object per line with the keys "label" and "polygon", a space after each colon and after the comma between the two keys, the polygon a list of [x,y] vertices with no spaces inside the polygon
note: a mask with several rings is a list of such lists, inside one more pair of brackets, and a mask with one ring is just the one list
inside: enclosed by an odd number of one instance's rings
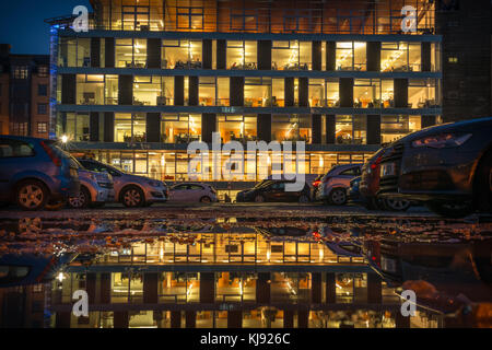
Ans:
{"label": "large dark car in right foreground, cut off by right edge", "polygon": [[444,217],[492,212],[492,118],[445,124],[394,142],[378,196],[421,200]]}

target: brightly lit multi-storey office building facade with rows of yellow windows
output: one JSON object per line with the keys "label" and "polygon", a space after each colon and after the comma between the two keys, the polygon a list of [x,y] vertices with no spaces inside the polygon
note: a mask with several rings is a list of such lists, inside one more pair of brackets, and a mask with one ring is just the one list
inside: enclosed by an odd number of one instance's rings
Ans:
{"label": "brightly lit multi-storey office building facade with rows of yellow windows", "polygon": [[[305,141],[297,171],[324,174],[441,120],[434,1],[92,4],[89,32],[48,21],[50,131],[131,173],[188,179],[187,145],[219,132],[224,143]],[[270,155],[245,173],[271,174]]]}

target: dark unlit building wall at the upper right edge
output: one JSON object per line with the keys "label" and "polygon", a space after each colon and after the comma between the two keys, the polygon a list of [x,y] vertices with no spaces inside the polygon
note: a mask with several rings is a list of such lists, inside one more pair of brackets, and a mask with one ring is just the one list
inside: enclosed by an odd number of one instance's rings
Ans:
{"label": "dark unlit building wall at the upper right edge", "polygon": [[442,1],[436,31],[443,36],[443,120],[492,115],[491,2]]}

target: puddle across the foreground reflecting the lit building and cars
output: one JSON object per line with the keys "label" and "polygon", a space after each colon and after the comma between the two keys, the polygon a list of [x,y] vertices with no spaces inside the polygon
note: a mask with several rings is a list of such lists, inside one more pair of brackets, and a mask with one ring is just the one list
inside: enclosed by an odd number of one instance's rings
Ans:
{"label": "puddle across the foreground reflecting the lit building and cars", "polygon": [[[2,327],[393,328],[492,322],[487,222],[21,219],[4,220],[1,228]],[[401,316],[403,289],[417,292],[413,317]],[[77,290],[89,294],[89,317],[71,314]]]}

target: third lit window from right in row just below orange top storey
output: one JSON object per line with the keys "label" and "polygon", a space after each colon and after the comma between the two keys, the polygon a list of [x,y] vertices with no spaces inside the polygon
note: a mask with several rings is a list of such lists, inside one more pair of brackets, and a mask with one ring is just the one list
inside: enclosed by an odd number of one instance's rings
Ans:
{"label": "third lit window from right in row just below orange top storey", "polygon": [[273,42],[271,63],[273,70],[309,70],[312,69],[311,42]]}

